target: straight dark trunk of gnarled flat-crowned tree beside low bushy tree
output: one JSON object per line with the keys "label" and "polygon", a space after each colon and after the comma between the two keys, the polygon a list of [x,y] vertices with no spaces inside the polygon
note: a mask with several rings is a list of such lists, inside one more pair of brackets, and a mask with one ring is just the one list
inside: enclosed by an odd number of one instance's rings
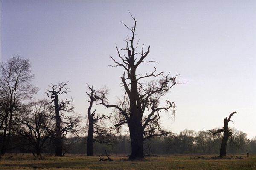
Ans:
{"label": "straight dark trunk of gnarled flat-crowned tree beside low bushy tree", "polygon": [[62,138],[61,138],[61,117],[58,105],[58,95],[54,98],[55,120],[56,120],[56,136],[55,136],[55,156],[63,156],[62,154]]}

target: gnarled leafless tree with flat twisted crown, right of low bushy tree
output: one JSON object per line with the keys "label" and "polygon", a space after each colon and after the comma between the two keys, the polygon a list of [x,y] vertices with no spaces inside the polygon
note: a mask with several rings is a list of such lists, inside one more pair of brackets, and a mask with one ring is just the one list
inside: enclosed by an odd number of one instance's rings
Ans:
{"label": "gnarled leafless tree with flat twisted crown, right of low bushy tree", "polygon": [[72,101],[65,100],[59,101],[59,95],[67,94],[68,88],[66,88],[68,82],[59,83],[57,85],[49,86],[51,89],[47,90],[46,94],[48,97],[52,99],[50,103],[53,103],[53,107],[55,111],[51,114],[52,118],[55,119],[55,156],[63,156],[63,148],[62,148],[62,135],[66,135],[68,132],[77,133],[78,127],[80,123],[80,116],[65,116],[64,112],[73,111]]}

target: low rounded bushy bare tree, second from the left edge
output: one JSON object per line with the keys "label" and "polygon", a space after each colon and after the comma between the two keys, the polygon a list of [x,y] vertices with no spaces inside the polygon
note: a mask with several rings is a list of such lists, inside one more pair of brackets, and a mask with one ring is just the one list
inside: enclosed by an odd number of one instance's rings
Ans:
{"label": "low rounded bushy bare tree, second from the left edge", "polygon": [[55,129],[47,103],[44,99],[26,105],[15,130],[22,140],[23,149],[29,150],[37,157],[41,157],[41,151],[47,147],[47,142],[51,144],[49,139]]}

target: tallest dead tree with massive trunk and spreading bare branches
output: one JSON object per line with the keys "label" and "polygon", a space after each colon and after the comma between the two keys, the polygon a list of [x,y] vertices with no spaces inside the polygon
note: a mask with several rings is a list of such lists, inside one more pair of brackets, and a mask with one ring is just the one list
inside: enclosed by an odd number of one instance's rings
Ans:
{"label": "tallest dead tree with massive trunk and spreading bare branches", "polygon": [[[145,75],[137,73],[137,69],[143,63],[154,62],[145,61],[150,51],[150,46],[145,50],[142,45],[141,51],[137,51],[138,43],[134,44],[136,20],[134,26],[129,28],[124,23],[124,26],[131,31],[131,36],[125,39],[126,47],[118,49],[116,46],[119,61],[113,57],[113,62],[116,65],[112,67],[123,68],[121,76],[122,87],[125,89],[125,94],[122,99],[119,99],[118,104],[109,105],[106,97],[107,91],[97,91],[97,99],[99,103],[107,108],[114,108],[116,111],[115,127],[119,130],[122,125],[128,125],[131,138],[131,155],[129,159],[142,159],[143,141],[151,139],[153,136],[168,136],[171,132],[163,130],[160,127],[161,111],[175,112],[174,102],[166,101],[165,106],[160,105],[160,101],[164,94],[170,90],[176,82],[177,75],[170,77],[169,74],[164,75],[164,72],[157,73],[156,68],[151,73]],[[126,54],[121,54],[120,51],[125,51]],[[151,80],[151,78],[158,78]]]}

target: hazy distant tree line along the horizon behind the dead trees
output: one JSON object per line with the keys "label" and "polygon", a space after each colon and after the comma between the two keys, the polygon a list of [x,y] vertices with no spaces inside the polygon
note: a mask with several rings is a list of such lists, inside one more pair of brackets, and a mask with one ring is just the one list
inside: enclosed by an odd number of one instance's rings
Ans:
{"label": "hazy distant tree line along the horizon behind the dead trees", "polygon": [[[247,135],[239,130],[232,129],[234,137],[236,138],[237,147],[230,140],[227,143],[227,153],[229,154],[256,154],[256,137],[247,139]],[[13,136],[12,153],[32,153],[33,145],[28,141],[21,142],[22,136]],[[72,154],[86,154],[87,153],[87,137],[65,137],[63,139],[64,150]],[[212,136],[208,131],[195,132],[194,130],[183,130],[176,137],[154,137],[151,141],[144,142],[144,153],[147,155],[175,155],[175,154],[219,154],[222,141],[222,135],[218,134]],[[17,143],[19,143],[17,145]],[[47,139],[47,144],[42,148],[41,153],[55,154],[54,143]],[[15,147],[18,146],[18,147]],[[115,143],[106,144],[94,142],[94,153],[101,155],[108,150],[110,154],[129,155],[131,153],[130,136],[117,136]]]}

